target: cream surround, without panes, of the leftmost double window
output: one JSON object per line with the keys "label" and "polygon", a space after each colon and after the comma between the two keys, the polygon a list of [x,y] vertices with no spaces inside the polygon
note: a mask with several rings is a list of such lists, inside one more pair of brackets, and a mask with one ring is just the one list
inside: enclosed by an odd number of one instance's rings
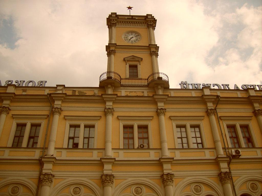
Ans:
{"label": "cream surround, without panes, of the leftmost double window", "polygon": [[17,124],[26,124],[24,139],[23,139],[23,143],[21,147],[27,146],[27,142],[28,142],[28,138],[29,138],[29,134],[31,130],[31,124],[40,124],[41,125],[40,132],[39,132],[39,137],[38,137],[38,142],[37,142],[37,148],[39,148],[41,145],[41,141],[42,141],[42,134],[43,134],[44,124],[45,124],[45,119],[48,117],[48,115],[12,114],[12,116],[14,118],[14,121],[13,121],[12,128],[10,131],[9,139],[7,142],[7,147],[12,147]]}

